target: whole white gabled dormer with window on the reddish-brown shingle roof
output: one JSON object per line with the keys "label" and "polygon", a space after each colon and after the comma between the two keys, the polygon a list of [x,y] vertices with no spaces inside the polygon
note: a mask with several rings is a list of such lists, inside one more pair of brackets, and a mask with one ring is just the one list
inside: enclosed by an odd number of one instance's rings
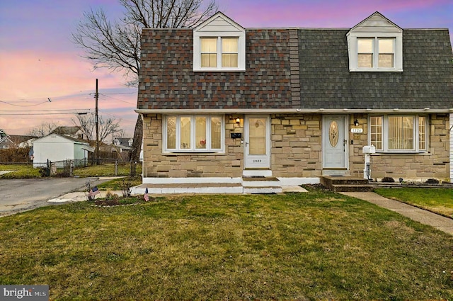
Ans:
{"label": "whole white gabled dormer with window on the reddish-brown shingle roof", "polygon": [[246,31],[223,13],[193,31],[193,71],[243,72],[246,70]]}

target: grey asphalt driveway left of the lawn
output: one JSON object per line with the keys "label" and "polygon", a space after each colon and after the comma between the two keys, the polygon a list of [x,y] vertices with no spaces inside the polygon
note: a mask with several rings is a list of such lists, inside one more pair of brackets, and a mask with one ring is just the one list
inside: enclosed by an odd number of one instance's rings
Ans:
{"label": "grey asphalt driveway left of the lawn", "polygon": [[42,206],[55,205],[47,200],[65,193],[85,191],[110,178],[24,178],[0,180],[0,217]]}

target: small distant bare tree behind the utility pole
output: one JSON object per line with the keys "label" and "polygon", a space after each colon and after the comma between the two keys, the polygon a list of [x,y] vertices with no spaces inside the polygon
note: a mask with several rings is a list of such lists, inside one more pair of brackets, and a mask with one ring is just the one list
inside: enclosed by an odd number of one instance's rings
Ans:
{"label": "small distant bare tree behind the utility pole", "polygon": [[[96,127],[93,114],[76,115],[76,118],[71,118],[71,120],[74,125],[80,127],[80,130],[84,132],[84,136],[87,140],[93,140],[93,132]],[[122,133],[122,129],[120,129],[120,121],[117,121],[114,118],[103,119],[100,115],[98,116],[98,126],[100,142],[103,142],[108,135],[112,134],[112,132]]]}

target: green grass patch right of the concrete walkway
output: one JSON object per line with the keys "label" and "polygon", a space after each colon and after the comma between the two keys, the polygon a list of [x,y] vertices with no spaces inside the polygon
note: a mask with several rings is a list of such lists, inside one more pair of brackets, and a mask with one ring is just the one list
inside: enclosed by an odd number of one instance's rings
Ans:
{"label": "green grass patch right of the concrete walkway", "polygon": [[452,188],[376,188],[374,192],[453,218]]}

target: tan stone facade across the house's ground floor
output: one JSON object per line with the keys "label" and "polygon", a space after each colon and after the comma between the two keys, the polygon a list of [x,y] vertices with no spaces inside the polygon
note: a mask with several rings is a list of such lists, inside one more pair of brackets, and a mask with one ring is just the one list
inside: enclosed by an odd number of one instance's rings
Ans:
{"label": "tan stone facade across the house's ground floor", "polygon": [[[273,114],[271,123],[271,170],[279,178],[316,178],[322,175],[321,114]],[[224,154],[165,154],[162,151],[162,115],[144,116],[144,177],[238,178],[243,172],[243,144],[231,132],[243,134],[235,123],[243,115],[225,115]],[[349,171],[363,177],[367,145],[367,114],[351,115],[349,128],[357,120],[363,132],[348,132]],[[449,115],[430,115],[429,152],[420,154],[372,154],[371,178],[406,178],[423,181],[449,178]]]}

